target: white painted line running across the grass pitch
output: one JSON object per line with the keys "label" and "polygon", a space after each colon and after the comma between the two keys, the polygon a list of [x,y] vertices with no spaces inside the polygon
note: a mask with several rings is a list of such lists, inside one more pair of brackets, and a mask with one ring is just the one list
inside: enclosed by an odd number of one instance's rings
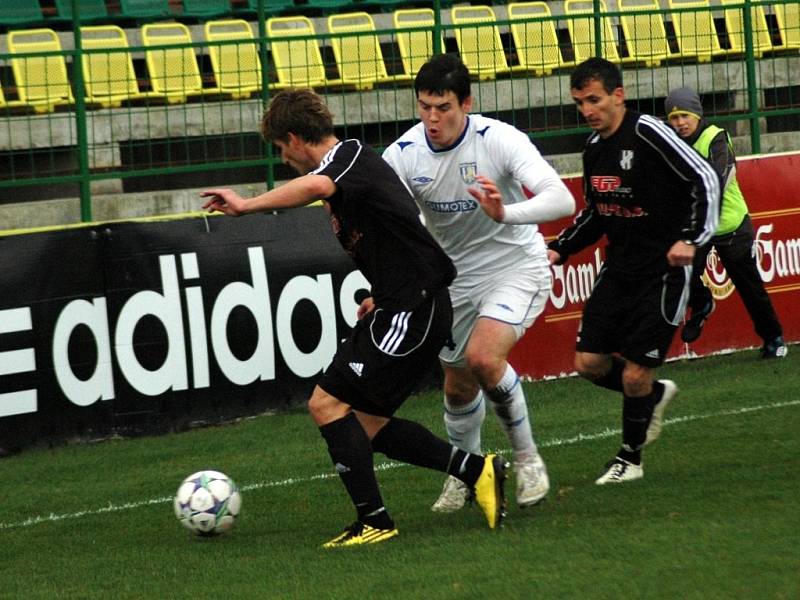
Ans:
{"label": "white painted line running across the grass pitch", "polygon": [[[666,419],[664,421],[664,425],[677,425],[679,423],[689,423],[692,421],[700,421],[703,419],[714,419],[718,417],[729,417],[729,416],[737,416],[737,415],[744,415],[751,412],[758,412],[762,410],[772,410],[776,408],[785,408],[789,406],[800,406],[800,400],[789,400],[786,402],[771,402],[769,404],[759,404],[756,406],[744,406],[741,408],[735,408],[730,410],[723,410],[720,412],[715,413],[706,413],[706,414],[698,414],[698,415],[686,415],[683,417],[673,417],[671,419]],[[556,448],[559,446],[571,446],[574,444],[578,444],[581,442],[589,442],[595,440],[606,439],[610,437],[617,436],[621,433],[619,429],[604,429],[602,431],[598,431],[596,433],[579,433],[578,435],[567,437],[567,438],[554,438],[551,440],[547,440],[538,444],[541,448]],[[387,471],[389,469],[396,469],[398,467],[406,467],[405,463],[399,462],[383,462],[378,463],[375,465],[375,470],[377,471]],[[299,485],[303,483],[311,483],[313,481],[322,481],[325,479],[333,479],[338,478],[336,473],[318,473],[316,475],[311,475],[308,477],[289,477],[287,479],[280,479],[276,481],[262,481],[258,483],[249,483],[247,485],[240,486],[242,491],[248,490],[261,490],[273,487],[286,487],[290,485]],[[172,496],[161,496],[160,498],[151,498],[149,500],[139,500],[137,502],[125,502],[124,504],[113,504],[111,502],[108,503],[106,506],[102,506],[100,508],[92,508],[81,510],[78,512],[72,513],[50,513],[48,515],[37,515],[35,517],[29,517],[24,521],[17,521],[15,523],[2,523],[0,522],[0,531],[4,529],[17,529],[21,527],[32,527],[33,525],[39,525],[41,523],[56,523],[58,521],[67,521],[69,519],[78,519],[80,517],[88,517],[92,515],[102,515],[106,513],[115,513],[115,512],[122,512],[125,510],[134,510],[136,508],[142,508],[144,506],[152,506],[154,504],[166,504],[172,502]]]}

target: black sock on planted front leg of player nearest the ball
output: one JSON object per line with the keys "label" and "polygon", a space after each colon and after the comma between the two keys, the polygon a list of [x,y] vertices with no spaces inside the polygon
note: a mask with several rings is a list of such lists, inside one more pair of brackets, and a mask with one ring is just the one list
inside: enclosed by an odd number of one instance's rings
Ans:
{"label": "black sock on planted front leg of player nearest the ball", "polygon": [[328,453],[356,507],[362,523],[391,529],[394,527],[383,505],[372,461],[372,448],[354,413],[319,428],[328,444]]}

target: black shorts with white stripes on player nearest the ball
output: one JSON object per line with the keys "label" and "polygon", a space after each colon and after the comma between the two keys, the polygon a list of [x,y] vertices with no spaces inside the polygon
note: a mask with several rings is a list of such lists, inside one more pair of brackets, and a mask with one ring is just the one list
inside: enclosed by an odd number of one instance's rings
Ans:
{"label": "black shorts with white stripes on player nearest the ball", "polygon": [[413,311],[376,308],[339,346],[319,386],[355,410],[390,417],[437,364],[452,323],[446,288]]}

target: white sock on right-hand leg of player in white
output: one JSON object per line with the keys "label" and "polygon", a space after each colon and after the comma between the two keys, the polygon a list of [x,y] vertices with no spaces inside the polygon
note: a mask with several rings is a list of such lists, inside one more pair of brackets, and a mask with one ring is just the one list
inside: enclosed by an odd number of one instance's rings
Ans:
{"label": "white sock on right-hand leg of player in white", "polygon": [[506,372],[494,389],[486,390],[486,395],[492,401],[494,412],[511,442],[514,459],[536,454],[536,442],[533,441],[531,423],[528,419],[525,392],[522,390],[517,372],[511,365],[506,366]]}

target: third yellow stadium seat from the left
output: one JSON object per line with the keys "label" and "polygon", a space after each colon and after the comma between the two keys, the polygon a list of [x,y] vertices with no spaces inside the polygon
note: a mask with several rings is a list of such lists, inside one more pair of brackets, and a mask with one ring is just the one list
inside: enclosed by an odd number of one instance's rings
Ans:
{"label": "third yellow stadium seat from the left", "polygon": [[147,23],[142,26],[142,42],[147,48],[145,62],[153,91],[171,103],[190,97],[221,94],[219,87],[203,87],[203,78],[191,46],[192,35],[183,23]]}

